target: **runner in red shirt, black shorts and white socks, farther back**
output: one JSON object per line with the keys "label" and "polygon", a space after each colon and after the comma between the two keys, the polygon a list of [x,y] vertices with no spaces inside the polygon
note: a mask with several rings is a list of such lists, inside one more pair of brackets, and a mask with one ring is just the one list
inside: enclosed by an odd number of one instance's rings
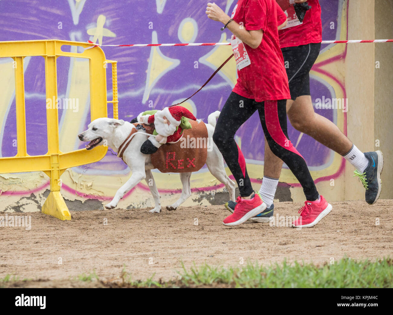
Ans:
{"label": "runner in red shirt, black shorts and white socks, farther back", "polygon": [[[322,41],[321,7],[318,0],[308,0],[311,7],[301,23],[295,14],[292,4],[301,4],[306,0],[278,1],[286,3],[288,23],[279,30],[279,40],[284,60],[289,67],[286,73],[289,80],[291,99],[287,101],[288,118],[298,131],[310,135],[321,144],[342,155],[356,170],[365,187],[365,200],[374,204],[381,191],[380,174],[383,167],[381,151],[362,153],[330,120],[314,112],[310,97],[310,70],[316,61]],[[277,158],[265,142],[264,177],[259,190],[264,202],[271,212],[268,216],[259,215],[251,220],[266,222],[273,215],[273,198],[277,188],[283,161]],[[228,202],[227,208],[233,209],[234,204]],[[271,217],[270,217],[271,216]],[[303,224],[307,224],[308,214],[303,213]],[[301,226],[300,222],[295,225]]]}

